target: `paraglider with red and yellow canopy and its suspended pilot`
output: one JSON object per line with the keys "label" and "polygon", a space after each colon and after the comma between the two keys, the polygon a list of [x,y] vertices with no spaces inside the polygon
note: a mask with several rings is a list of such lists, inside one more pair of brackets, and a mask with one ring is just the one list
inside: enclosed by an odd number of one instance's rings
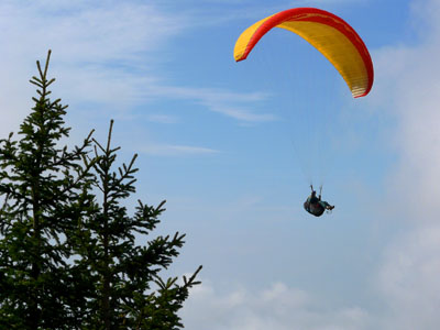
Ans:
{"label": "paraglider with red and yellow canopy and its suspended pilot", "polygon": [[[364,42],[341,18],[316,8],[294,8],[280,11],[249,26],[239,36],[234,47],[237,62],[248,58],[255,45],[272,29],[293,32],[318,50],[338,70],[354,98],[366,96],[374,79],[373,63]],[[293,59],[295,61],[295,56]],[[298,81],[300,82],[300,81]],[[334,206],[311,195],[304,208],[314,216],[321,216]]]}

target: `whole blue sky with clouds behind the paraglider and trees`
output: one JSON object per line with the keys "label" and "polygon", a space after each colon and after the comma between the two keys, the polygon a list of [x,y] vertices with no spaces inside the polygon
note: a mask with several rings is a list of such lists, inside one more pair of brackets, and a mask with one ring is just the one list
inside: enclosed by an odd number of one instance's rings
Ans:
{"label": "whole blue sky with clouds behind the paraglider and trees", "polygon": [[[295,7],[358,31],[367,97],[299,38],[233,61],[245,28]],[[187,234],[166,274],[204,265],[186,329],[438,329],[439,0],[0,0],[0,135],[52,50],[69,145],[114,119],[120,162],[139,154],[129,209],[166,199],[156,234]],[[331,215],[302,210],[310,178]]]}

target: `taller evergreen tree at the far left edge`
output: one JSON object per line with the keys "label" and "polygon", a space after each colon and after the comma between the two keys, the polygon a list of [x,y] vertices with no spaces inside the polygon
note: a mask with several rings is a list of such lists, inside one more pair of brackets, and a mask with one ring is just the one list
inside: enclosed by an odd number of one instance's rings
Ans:
{"label": "taller evergreen tree at the far left edge", "polygon": [[[81,299],[74,287],[69,237],[87,211],[91,133],[81,146],[58,147],[67,138],[66,106],[52,101],[51,52],[40,77],[35,106],[13,133],[0,140],[0,326],[1,329],[74,329]],[[79,304],[79,305],[78,305]]]}

